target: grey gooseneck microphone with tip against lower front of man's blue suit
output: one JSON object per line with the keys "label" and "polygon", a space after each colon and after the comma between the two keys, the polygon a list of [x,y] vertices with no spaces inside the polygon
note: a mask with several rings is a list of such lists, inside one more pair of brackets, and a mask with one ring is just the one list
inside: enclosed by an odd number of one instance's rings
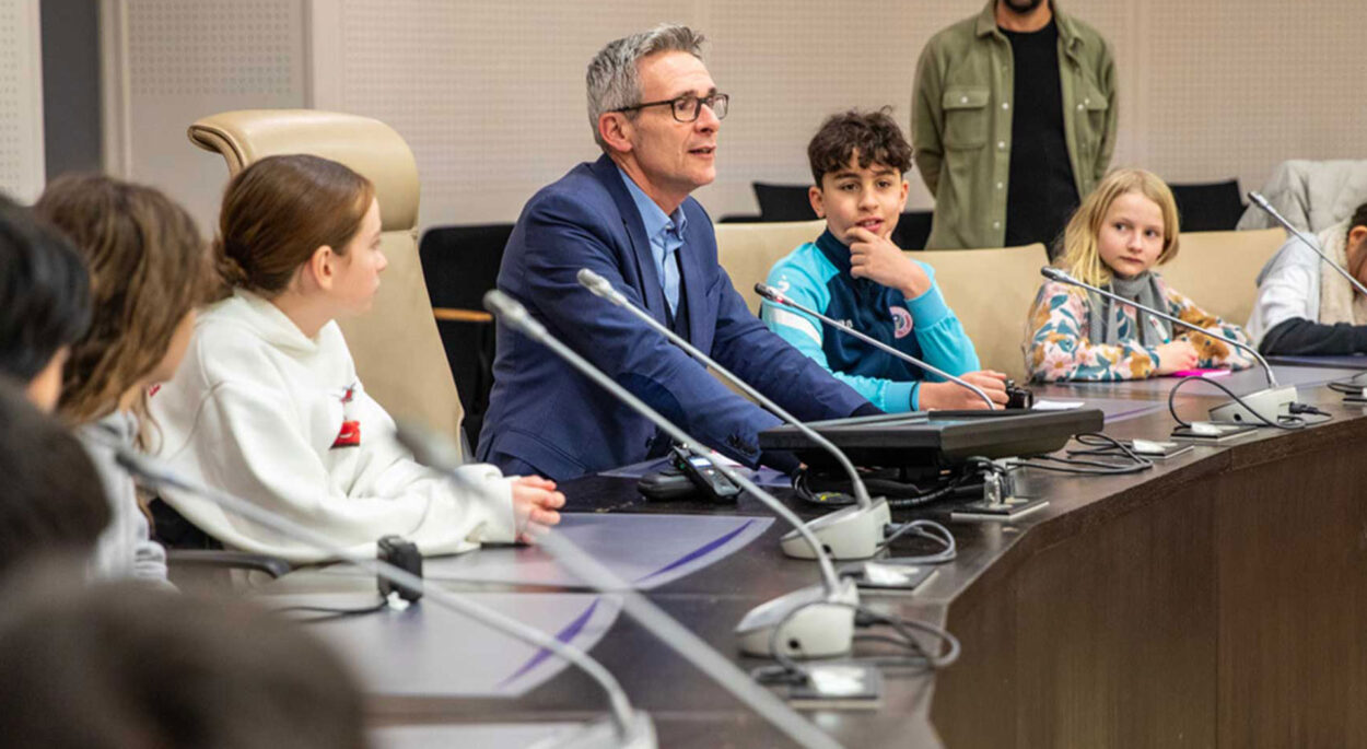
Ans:
{"label": "grey gooseneck microphone with tip against lower front of man's blue suit", "polygon": [[[711,452],[655,409],[647,406],[632,391],[547,332],[545,327],[533,318],[517,299],[499,290],[492,290],[484,295],[484,309],[492,312],[504,325],[548,349],[629,409],[645,417],[656,428],[663,429],[674,441],[681,443],[694,455],[707,457]],[[772,645],[776,644],[786,655],[798,657],[822,657],[849,652],[854,637],[853,607],[858,604],[858,589],[854,582],[852,580],[841,581],[837,577],[830,556],[822,548],[822,541],[782,502],[774,499],[725,462],[718,461],[714,465],[718,472],[763,502],[798,532],[802,540],[811,545],[822,574],[822,585],[794,590],[750,610],[735,626],[741,649],[750,655],[772,656]]]}

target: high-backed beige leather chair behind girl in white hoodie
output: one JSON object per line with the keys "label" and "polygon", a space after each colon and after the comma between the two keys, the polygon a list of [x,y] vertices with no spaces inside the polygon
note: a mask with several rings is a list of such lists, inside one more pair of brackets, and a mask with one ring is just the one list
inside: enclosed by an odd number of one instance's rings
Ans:
{"label": "high-backed beige leather chair behind girl in white hoodie", "polygon": [[366,391],[395,418],[413,418],[459,443],[461,400],[418,262],[418,169],[383,122],[314,109],[223,112],[190,126],[194,145],[223,154],[230,175],[265,156],[310,153],[375,183],[388,257],[370,313],[339,320]]}

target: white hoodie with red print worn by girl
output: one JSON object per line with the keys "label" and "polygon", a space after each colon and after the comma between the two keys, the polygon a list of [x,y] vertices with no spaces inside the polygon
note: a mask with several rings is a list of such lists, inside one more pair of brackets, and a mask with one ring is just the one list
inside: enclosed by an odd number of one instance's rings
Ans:
{"label": "white hoodie with red print worn by girl", "polygon": [[[416,463],[362,390],[336,323],[310,339],[269,301],[239,290],[200,316],[180,369],[150,409],[157,452],[178,473],[354,551],[373,554],[390,533],[425,555],[514,539],[511,491],[499,470],[463,466],[487,491],[457,496],[450,481]],[[324,558],[208,500],[183,492],[163,499],[228,548]]]}

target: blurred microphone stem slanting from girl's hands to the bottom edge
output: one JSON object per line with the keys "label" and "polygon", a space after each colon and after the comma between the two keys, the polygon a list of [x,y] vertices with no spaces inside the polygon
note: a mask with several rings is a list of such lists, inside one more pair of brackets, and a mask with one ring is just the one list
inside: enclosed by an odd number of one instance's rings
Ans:
{"label": "blurred microphone stem slanting from girl's hands to the bottom edge", "polygon": [[[461,454],[446,435],[414,422],[399,422],[395,436],[403,447],[413,452],[417,462],[442,472],[463,491],[476,496],[488,491],[457,470],[462,465]],[[802,746],[838,746],[835,741],[808,723],[772,692],[755,683],[734,663],[722,657],[697,634],[679,625],[601,562],[566,540],[563,534],[552,529],[550,533],[539,536],[537,544],[589,588],[621,597],[622,608],[627,615],[641,622],[660,642],[711,677],[735,698],[787,734],[789,738]]]}

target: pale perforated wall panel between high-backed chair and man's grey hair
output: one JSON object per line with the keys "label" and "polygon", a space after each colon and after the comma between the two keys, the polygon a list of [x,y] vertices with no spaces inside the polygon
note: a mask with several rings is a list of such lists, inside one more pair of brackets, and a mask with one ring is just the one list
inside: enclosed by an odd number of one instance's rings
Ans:
{"label": "pale perforated wall panel between high-backed chair and man's grey hair", "polygon": [[693,22],[688,7],[344,0],[343,105],[407,139],[424,224],[511,220],[536,189],[597,157],[584,94],[589,57],[660,19]]}

